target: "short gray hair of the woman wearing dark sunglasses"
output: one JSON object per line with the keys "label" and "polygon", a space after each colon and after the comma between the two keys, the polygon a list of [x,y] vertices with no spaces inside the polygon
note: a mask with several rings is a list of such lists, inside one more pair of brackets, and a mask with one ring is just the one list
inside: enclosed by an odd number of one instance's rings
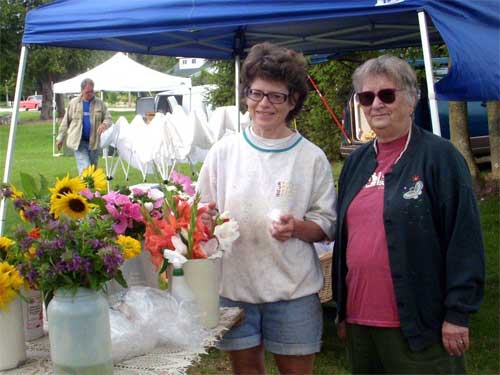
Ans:
{"label": "short gray hair of the woman wearing dark sunglasses", "polygon": [[415,71],[405,60],[391,55],[375,57],[359,66],[352,75],[352,85],[356,92],[363,89],[364,80],[370,76],[385,76],[404,90],[406,100],[415,108],[419,98],[418,81]]}

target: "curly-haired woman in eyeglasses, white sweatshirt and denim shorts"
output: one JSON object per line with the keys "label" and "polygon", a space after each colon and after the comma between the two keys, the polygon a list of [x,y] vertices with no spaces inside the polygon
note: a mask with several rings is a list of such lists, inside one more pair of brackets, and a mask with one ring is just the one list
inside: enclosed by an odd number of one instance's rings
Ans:
{"label": "curly-haired woman in eyeglasses, white sweatshirt and denim shorts", "polygon": [[320,351],[323,276],[313,242],[333,239],[335,188],[323,151],[290,128],[307,96],[306,66],[269,43],[250,50],[242,94],[251,126],[214,145],[198,179],[202,202],[240,227],[222,258],[220,295],[245,317],[218,345],[235,374],[264,374],[264,350],[280,373],[311,374]]}

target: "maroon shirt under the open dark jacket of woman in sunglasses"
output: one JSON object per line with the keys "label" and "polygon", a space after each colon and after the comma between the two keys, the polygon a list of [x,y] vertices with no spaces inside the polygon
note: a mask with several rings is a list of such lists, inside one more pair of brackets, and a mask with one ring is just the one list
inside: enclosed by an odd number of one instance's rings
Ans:
{"label": "maroon shirt under the open dark jacket of woman in sunglasses", "polygon": [[384,229],[384,175],[406,148],[408,134],[376,143],[377,169],[347,210],[347,322],[399,327]]}

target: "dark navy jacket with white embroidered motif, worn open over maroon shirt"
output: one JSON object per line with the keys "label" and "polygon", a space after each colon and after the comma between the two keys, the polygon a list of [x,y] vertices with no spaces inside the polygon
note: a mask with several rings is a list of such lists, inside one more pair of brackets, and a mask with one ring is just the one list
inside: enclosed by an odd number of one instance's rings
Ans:
{"label": "dark navy jacket with white embroidered motif, worn open over maroon shirt", "polygon": [[[339,178],[333,285],[346,306],[346,212],[377,167],[373,141]],[[441,340],[443,321],[468,326],[484,293],[484,248],[471,176],[447,140],[413,126],[408,148],[385,175],[384,227],[401,331],[414,351]]]}

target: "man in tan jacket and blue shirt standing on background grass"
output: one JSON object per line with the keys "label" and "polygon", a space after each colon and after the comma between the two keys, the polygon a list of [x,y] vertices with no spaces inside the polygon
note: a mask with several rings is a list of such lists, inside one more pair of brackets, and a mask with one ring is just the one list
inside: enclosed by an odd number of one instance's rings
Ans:
{"label": "man in tan jacket and blue shirt standing on background grass", "polygon": [[57,149],[63,142],[75,153],[78,173],[90,164],[97,167],[99,160],[100,135],[111,126],[111,115],[106,104],[94,94],[94,81],[82,81],[81,93],[69,103],[66,114],[59,127]]}

